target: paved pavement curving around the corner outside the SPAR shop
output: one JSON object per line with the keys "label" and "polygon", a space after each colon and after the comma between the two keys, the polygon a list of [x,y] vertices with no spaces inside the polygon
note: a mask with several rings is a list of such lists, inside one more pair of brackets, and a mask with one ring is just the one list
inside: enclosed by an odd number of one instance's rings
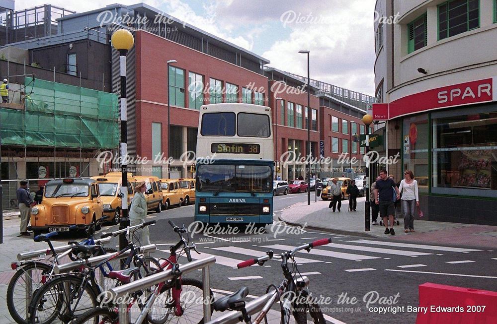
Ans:
{"label": "paved pavement curving around the corner outside the SPAR shop", "polygon": [[[404,218],[398,215],[400,225],[394,226],[396,235],[385,235],[385,227],[371,226],[371,231],[365,231],[364,198],[357,199],[357,211],[348,211],[348,201],[342,201],[341,211],[334,213],[328,208],[330,201],[318,198],[311,205],[307,202],[296,203],[281,211],[279,219],[291,224],[304,225],[312,229],[376,237],[382,239],[405,241],[422,244],[470,246],[480,248],[497,248],[497,226],[473,225],[461,223],[435,222],[414,220],[414,233],[404,233]],[[378,217],[379,218],[379,217]],[[379,220],[379,219],[378,219]]]}

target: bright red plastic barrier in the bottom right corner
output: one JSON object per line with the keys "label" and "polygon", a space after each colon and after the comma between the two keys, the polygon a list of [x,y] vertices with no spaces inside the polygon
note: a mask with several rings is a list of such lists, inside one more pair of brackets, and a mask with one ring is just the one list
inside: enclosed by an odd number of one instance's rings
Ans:
{"label": "bright red plastic barrier in the bottom right corner", "polygon": [[496,324],[497,292],[424,283],[416,324]]}

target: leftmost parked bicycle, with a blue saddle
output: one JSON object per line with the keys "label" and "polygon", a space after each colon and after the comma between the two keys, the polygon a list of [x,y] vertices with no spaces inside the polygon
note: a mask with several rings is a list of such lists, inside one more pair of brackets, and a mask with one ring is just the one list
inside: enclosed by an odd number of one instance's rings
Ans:
{"label": "leftmost parked bicycle, with a blue saddle", "polygon": [[[68,245],[94,245],[94,234],[97,223],[103,222],[108,216],[104,216],[97,221],[91,222],[88,225],[73,225],[70,230],[79,229],[86,231],[86,239],[81,242],[68,242]],[[38,235],[34,238],[36,242],[47,242],[49,249],[46,253],[51,253],[49,259],[38,258],[26,261],[16,261],[10,264],[12,270],[17,270],[9,281],[7,287],[6,303],[7,309],[12,319],[18,324],[27,324],[28,308],[32,294],[43,284],[43,277],[49,277],[53,274],[56,265],[60,264],[60,260],[66,256],[71,256],[71,247],[66,251],[56,253],[50,241],[50,238],[58,235],[57,232],[51,232],[44,235]],[[106,253],[117,252],[113,248],[104,248]],[[75,258],[72,258],[75,260]],[[112,271],[112,266],[107,264],[107,267]],[[102,274],[105,273],[101,268]]]}

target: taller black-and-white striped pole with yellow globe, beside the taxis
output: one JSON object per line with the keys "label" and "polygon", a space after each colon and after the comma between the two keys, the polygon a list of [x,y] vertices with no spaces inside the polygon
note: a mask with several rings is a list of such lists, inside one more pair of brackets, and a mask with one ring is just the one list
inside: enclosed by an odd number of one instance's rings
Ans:
{"label": "taller black-and-white striped pole with yellow globe, beside the taxis", "polygon": [[[121,70],[121,210],[122,217],[119,229],[129,226],[128,218],[128,136],[127,136],[127,105],[126,105],[126,54],[135,42],[133,35],[126,29],[116,30],[111,38],[112,46],[119,51]],[[119,250],[128,246],[126,233],[119,236]],[[121,266],[124,263],[121,262]]]}

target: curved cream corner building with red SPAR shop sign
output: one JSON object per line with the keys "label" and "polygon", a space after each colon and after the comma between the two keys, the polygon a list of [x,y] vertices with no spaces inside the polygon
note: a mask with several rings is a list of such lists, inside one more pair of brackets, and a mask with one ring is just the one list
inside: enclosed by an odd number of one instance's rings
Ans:
{"label": "curved cream corner building with red SPAR shop sign", "polygon": [[377,102],[397,179],[413,170],[425,218],[497,224],[497,3],[378,0]]}

